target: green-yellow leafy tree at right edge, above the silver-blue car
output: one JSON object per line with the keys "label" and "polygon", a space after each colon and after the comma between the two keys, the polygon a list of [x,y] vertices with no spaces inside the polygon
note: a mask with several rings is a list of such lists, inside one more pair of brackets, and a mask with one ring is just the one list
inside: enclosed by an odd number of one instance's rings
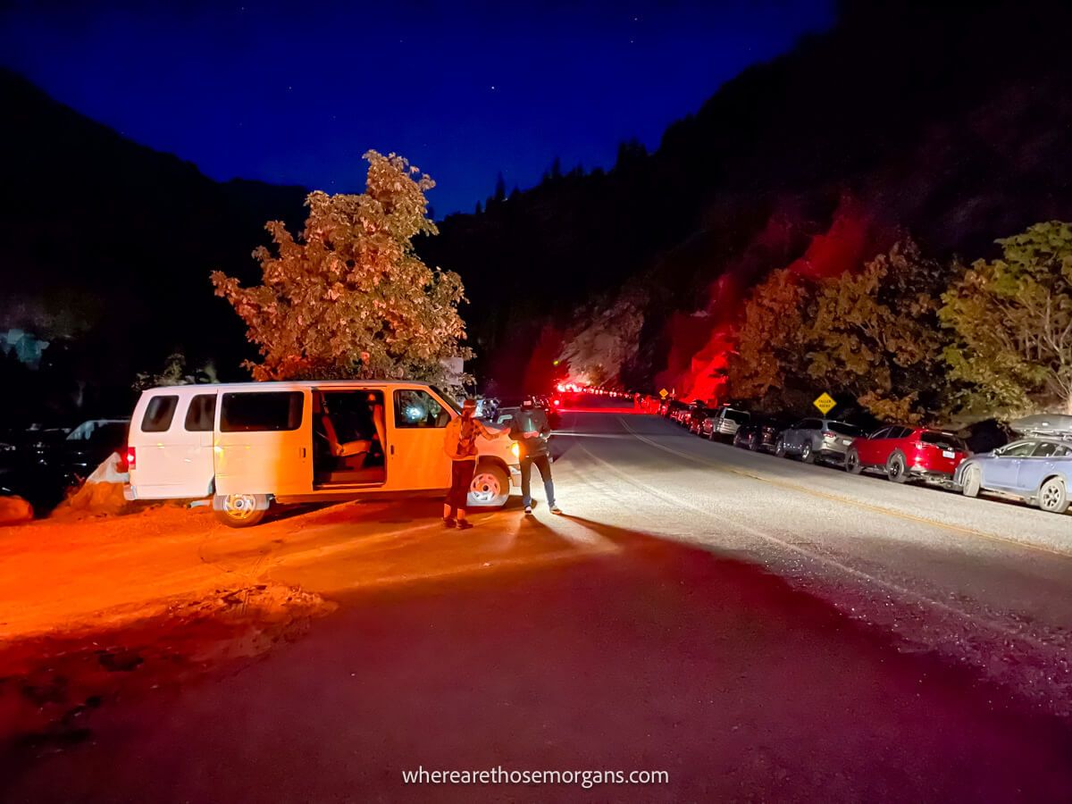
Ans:
{"label": "green-yellow leafy tree at right edge, above the silver-blue car", "polygon": [[943,294],[951,374],[969,383],[968,411],[1016,415],[1059,405],[1072,414],[1072,225],[1037,223],[997,241]]}

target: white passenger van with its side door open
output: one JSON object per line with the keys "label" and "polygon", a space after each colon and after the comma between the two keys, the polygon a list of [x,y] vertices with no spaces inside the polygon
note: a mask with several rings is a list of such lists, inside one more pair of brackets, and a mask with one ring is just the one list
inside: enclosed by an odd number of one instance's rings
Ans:
{"label": "white passenger van with its side door open", "polygon": [[[461,408],[422,383],[302,381],[151,388],[134,408],[128,500],[212,496],[243,527],[272,502],[445,491],[444,428]],[[517,444],[477,442],[474,508],[520,482]]]}

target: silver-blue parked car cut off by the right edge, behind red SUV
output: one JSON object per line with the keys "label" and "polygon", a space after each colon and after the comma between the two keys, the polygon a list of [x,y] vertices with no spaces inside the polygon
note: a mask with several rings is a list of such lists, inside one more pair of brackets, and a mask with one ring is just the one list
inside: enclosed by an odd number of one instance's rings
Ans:
{"label": "silver-blue parked car cut off by the right edge, behind red SUV", "polygon": [[989,492],[1063,513],[1072,482],[1072,416],[1029,416],[1012,423],[1026,437],[965,460],[954,483],[965,496]]}

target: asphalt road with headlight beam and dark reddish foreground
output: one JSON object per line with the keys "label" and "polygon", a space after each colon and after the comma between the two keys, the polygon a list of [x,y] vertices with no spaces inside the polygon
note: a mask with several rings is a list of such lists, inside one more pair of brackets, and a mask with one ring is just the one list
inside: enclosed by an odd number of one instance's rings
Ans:
{"label": "asphalt road with headlight beam and dark reddish foreground", "polygon": [[[267,577],[339,611],[240,672],[105,708],[11,798],[1069,799],[1072,519],[650,416],[563,429],[565,517],[277,523]],[[404,785],[418,766],[669,781]]]}

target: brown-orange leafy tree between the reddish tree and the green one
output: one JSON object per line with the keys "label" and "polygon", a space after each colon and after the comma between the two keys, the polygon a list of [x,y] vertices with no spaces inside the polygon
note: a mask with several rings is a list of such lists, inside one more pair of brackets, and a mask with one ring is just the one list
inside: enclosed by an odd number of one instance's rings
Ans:
{"label": "brown-orange leafy tree between the reddish tree and the green one", "polygon": [[919,422],[941,402],[941,266],[911,240],[817,283],[801,338],[807,375],[880,419]]}

